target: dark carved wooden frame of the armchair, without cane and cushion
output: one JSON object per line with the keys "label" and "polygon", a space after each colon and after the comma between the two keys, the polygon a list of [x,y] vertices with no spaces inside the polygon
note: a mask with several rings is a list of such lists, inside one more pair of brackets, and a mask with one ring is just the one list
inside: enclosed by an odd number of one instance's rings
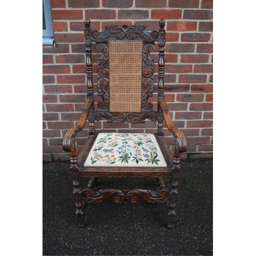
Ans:
{"label": "dark carved wooden frame of the armchair, without cane and cushion", "polygon": [[[173,228],[176,219],[176,204],[178,200],[178,183],[180,179],[180,157],[186,152],[187,144],[183,133],[177,129],[170,118],[166,103],[164,101],[164,47],[165,47],[165,20],[159,21],[159,31],[148,32],[145,26],[105,26],[105,30],[99,32],[91,31],[91,22],[84,20],[84,44],[86,45],[87,66],[87,100],[83,108],[80,120],[76,127],[70,129],[62,143],[64,151],[70,154],[70,174],[73,182],[73,197],[76,206],[76,222],[78,227],[84,227],[84,208],[88,203],[101,203],[108,199],[116,204],[137,203],[145,200],[149,203],[164,203],[167,207],[167,227]],[[94,93],[92,81],[92,40],[97,44],[101,57],[97,62],[98,82],[97,91],[102,100],[98,102],[98,109],[94,110]],[[109,95],[109,40],[142,40],[142,80],[141,80],[141,113],[111,113]],[[158,109],[153,111],[153,104],[149,101],[153,95],[154,83],[154,60],[150,53],[154,51],[155,41],[159,45],[158,61]],[[125,87],[125,84],[123,85]],[[155,137],[160,150],[167,163],[166,167],[86,167],[89,152],[97,138],[95,121],[105,118],[107,122],[118,123],[144,123],[145,119],[157,121]],[[82,131],[86,121],[89,122],[89,137],[86,139],[82,150],[77,154],[76,137]],[[175,149],[172,153],[163,136],[163,122],[175,140]],[[132,130],[131,130],[132,132]],[[81,189],[80,179],[91,177],[87,188]],[[97,178],[100,177],[155,177],[156,184],[160,187],[158,191],[146,189],[119,190],[115,188],[104,190],[93,190]],[[170,188],[163,181],[163,177],[170,178]]]}

